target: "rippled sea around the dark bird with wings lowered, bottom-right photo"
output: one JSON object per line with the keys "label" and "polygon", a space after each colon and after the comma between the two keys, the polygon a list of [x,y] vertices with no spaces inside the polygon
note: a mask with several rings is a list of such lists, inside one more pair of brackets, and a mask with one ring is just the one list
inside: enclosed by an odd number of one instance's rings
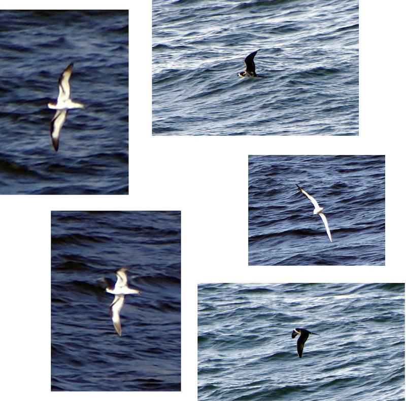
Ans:
{"label": "rippled sea around the dark bird with wings lowered, bottom-right photo", "polygon": [[404,284],[200,284],[197,372],[199,400],[402,400]]}

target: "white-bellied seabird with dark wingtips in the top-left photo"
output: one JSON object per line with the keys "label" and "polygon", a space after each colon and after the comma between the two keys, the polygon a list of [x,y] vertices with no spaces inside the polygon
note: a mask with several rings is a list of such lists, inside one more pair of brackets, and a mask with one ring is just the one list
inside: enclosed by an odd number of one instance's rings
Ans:
{"label": "white-bellied seabird with dark wingtips in the top-left photo", "polygon": [[66,120],[67,111],[70,108],[83,108],[82,103],[75,103],[71,100],[71,86],[69,79],[72,74],[73,63],[69,64],[59,77],[59,95],[55,103],[48,103],[48,107],[56,110],[55,116],[51,121],[51,138],[55,151],[58,150],[59,134],[63,123]]}

